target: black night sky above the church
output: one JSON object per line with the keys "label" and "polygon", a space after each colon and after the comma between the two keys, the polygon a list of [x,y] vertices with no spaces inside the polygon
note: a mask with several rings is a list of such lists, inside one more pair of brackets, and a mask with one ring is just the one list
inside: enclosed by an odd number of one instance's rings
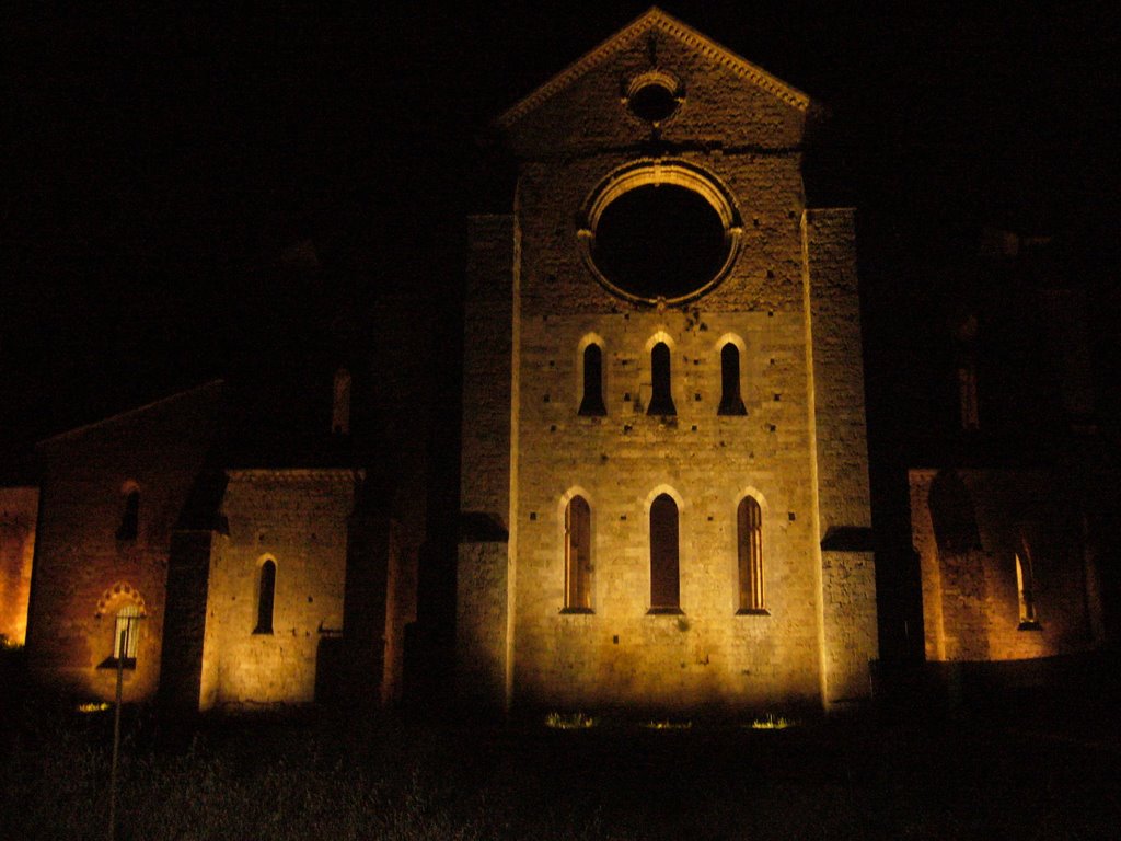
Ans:
{"label": "black night sky above the church", "polygon": [[[136,6],[7,12],[0,444],[223,373],[277,312],[247,278],[314,220],[364,231],[379,283],[458,284],[463,215],[508,201],[475,138],[647,8]],[[1117,4],[878,6],[664,3],[831,105],[812,198],[884,259],[988,223],[1115,275]]]}

